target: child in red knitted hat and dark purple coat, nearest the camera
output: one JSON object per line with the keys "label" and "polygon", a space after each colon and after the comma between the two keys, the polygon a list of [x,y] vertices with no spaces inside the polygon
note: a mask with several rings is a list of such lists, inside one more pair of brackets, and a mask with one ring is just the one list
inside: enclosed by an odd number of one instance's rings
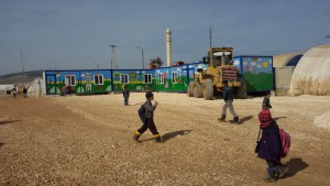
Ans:
{"label": "child in red knitted hat and dark purple coat, nearest the camera", "polygon": [[286,167],[280,163],[282,144],[278,125],[273,120],[270,110],[262,110],[258,113],[260,129],[262,138],[257,150],[257,157],[267,163],[267,176],[265,182],[276,182],[284,175]]}

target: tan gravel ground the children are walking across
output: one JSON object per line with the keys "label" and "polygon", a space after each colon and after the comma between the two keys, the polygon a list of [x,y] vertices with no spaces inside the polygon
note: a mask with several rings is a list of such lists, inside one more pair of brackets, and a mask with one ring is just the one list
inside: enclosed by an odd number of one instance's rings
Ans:
{"label": "tan gravel ground the children are walking across", "polygon": [[[217,121],[220,99],[155,94],[160,144],[148,131],[132,140],[144,100],[0,96],[0,185],[265,185],[266,164],[254,153],[262,98],[234,100],[242,122],[231,124]],[[330,96],[271,103],[292,135],[289,171],[273,185],[330,185]]]}

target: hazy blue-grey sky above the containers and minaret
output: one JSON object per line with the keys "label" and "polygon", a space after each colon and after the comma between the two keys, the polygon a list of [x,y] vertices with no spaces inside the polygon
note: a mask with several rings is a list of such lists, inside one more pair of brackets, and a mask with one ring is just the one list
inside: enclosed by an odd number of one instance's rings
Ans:
{"label": "hazy blue-grey sky above the containers and minaret", "polygon": [[[0,76],[38,69],[142,67],[160,56],[198,62],[209,47],[277,55],[330,43],[330,0],[0,0]],[[329,37],[327,37],[329,36]]]}

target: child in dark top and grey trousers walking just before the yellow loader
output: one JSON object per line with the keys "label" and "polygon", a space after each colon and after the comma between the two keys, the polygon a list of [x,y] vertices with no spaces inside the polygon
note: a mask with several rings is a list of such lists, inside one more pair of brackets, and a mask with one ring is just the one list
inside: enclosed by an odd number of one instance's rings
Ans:
{"label": "child in dark top and grey trousers walking just before the yellow loader", "polygon": [[223,92],[224,105],[222,107],[221,118],[218,118],[218,120],[220,120],[222,122],[226,121],[227,108],[229,108],[229,111],[233,116],[233,120],[231,121],[231,123],[238,123],[239,116],[237,114],[237,112],[234,111],[233,106],[232,106],[232,102],[233,102],[232,89],[228,86],[228,80],[222,80],[222,85],[223,85],[222,92]]}

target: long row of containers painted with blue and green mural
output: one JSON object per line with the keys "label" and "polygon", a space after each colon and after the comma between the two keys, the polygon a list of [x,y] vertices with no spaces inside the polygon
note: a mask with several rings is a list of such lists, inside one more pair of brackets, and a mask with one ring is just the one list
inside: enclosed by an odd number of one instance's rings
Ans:
{"label": "long row of containers painted with blue and green mural", "polygon": [[[273,85],[272,56],[238,56],[233,65],[245,80],[246,91],[271,91]],[[45,70],[46,95],[90,95],[131,91],[186,92],[197,69],[207,64],[193,63],[156,69],[77,69]]]}

